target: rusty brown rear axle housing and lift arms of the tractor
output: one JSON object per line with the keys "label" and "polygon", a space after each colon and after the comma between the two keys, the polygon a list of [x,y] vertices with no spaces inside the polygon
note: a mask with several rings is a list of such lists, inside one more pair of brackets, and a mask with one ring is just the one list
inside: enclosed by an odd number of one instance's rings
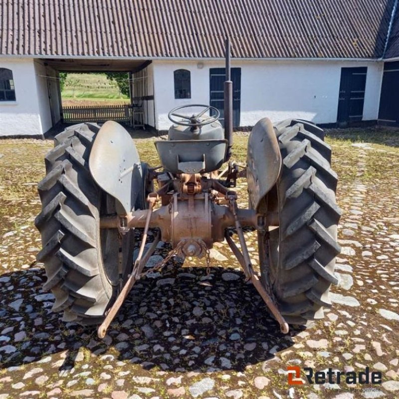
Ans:
{"label": "rusty brown rear axle housing and lift arms of the tractor", "polygon": [[[234,184],[236,171],[237,168],[232,168],[231,166],[228,170],[231,185]],[[169,189],[174,189],[174,194],[168,194]],[[216,197],[221,198],[220,196],[222,196],[224,203],[228,204],[228,206],[214,202],[214,199]],[[162,206],[154,209],[154,205],[160,197]],[[168,204],[164,204],[165,197],[169,197]],[[281,331],[283,333],[288,332],[288,324],[279,313],[252,268],[242,231],[242,226],[251,226],[258,229],[258,231],[263,231],[265,217],[260,216],[253,209],[239,209],[236,199],[235,192],[229,191],[228,188],[215,179],[207,179],[199,174],[181,174],[179,179],[165,183],[158,192],[148,196],[149,209],[135,210],[124,215],[101,218],[101,228],[118,228],[119,232],[124,234],[131,228],[144,227],[144,233],[132,274],[121,289],[115,303],[109,309],[104,322],[98,328],[99,338],[104,338],[110,323],[133,285],[142,276],[143,268],[155,251],[160,239],[165,242],[171,242],[174,250],[179,247],[179,252],[185,256],[195,255],[201,257],[212,247],[214,242],[221,242],[225,238],[244,269],[246,278],[252,281],[266,305],[280,323]],[[242,253],[231,237],[226,234],[228,227],[236,228]],[[144,254],[149,228],[159,228],[159,233]]]}

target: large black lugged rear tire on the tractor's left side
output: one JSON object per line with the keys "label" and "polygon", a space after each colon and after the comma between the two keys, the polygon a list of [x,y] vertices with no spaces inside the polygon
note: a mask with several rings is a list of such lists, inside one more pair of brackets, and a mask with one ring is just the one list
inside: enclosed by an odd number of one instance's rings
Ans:
{"label": "large black lugged rear tire on the tractor's left side", "polygon": [[115,200],[97,186],[88,168],[98,130],[87,123],[55,137],[38,185],[42,210],[35,219],[43,245],[37,260],[46,270],[44,289],[55,296],[52,310],[83,325],[101,323],[133,262],[134,232],[120,241],[117,229],[100,230],[100,215],[115,213]]}

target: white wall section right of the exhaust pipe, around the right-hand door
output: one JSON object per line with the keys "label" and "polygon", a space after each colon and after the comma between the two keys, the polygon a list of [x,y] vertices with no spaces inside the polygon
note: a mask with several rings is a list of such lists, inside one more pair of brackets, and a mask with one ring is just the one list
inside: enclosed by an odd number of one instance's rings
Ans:
{"label": "white wall section right of the exhaust pipe, around the right-hand door", "polygon": [[273,122],[299,118],[337,121],[342,67],[367,66],[363,120],[377,119],[382,62],[253,62],[241,70],[241,126],[268,116]]}

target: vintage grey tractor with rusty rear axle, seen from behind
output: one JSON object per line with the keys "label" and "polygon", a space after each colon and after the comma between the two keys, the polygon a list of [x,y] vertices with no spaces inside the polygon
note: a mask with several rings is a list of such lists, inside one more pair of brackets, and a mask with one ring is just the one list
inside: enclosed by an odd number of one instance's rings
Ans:
{"label": "vintage grey tractor with rusty rear axle, seen from behind", "polygon": [[[140,162],[131,136],[116,122],[71,126],[55,137],[38,185],[42,210],[35,224],[43,243],[37,259],[47,274],[44,288],[53,292],[53,310],[63,310],[63,320],[99,325],[103,338],[160,240],[173,248],[163,264],[174,254],[204,257],[209,264],[209,249],[225,240],[283,333],[287,323],[306,325],[331,306],[341,210],[323,131],[302,120],[273,127],[261,119],[248,140],[249,208],[239,208],[232,188],[242,170],[229,161],[228,44],[226,76],[224,130],[213,107],[175,108],[168,140],[155,142],[162,168]],[[136,227],[144,233],[133,261]],[[149,228],[157,233],[146,246]],[[257,232],[260,277],[243,228]]]}

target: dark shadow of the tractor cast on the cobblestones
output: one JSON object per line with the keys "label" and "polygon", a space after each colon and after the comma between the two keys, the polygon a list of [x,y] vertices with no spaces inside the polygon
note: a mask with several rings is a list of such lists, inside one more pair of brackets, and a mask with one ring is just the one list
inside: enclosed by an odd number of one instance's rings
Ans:
{"label": "dark shadow of the tractor cast on the cobblestones", "polygon": [[174,260],[162,275],[136,284],[100,340],[94,326],[64,323],[51,312],[52,294],[41,289],[45,279],[42,268],[1,275],[0,368],[63,352],[59,370],[67,373],[80,350],[86,361],[94,354],[147,370],[242,371],[292,346],[301,331],[280,333],[242,272],[211,267],[207,274]]}

